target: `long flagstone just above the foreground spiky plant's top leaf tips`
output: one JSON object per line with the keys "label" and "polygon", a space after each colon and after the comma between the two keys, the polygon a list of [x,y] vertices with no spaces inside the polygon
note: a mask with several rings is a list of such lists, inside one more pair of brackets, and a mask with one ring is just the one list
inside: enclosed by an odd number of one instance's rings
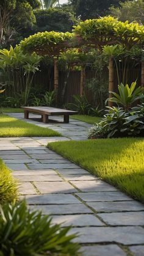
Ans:
{"label": "long flagstone just above the foreground spiky plant's top leaf tips", "polygon": [[[68,205],[81,204],[76,197],[71,194],[45,194],[37,196],[26,196],[27,203],[30,205]],[[59,207],[59,206],[58,206]]]}

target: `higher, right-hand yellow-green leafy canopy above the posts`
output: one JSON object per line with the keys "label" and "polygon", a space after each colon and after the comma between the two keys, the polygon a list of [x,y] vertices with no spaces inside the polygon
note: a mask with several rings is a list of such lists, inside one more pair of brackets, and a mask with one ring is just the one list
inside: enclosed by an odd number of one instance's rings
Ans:
{"label": "higher, right-hand yellow-green leafy canopy above the posts", "polygon": [[[144,41],[144,26],[121,22],[112,16],[81,21],[73,32],[84,40],[94,40],[99,45],[124,43],[131,46]],[[112,40],[112,42],[110,42]]]}

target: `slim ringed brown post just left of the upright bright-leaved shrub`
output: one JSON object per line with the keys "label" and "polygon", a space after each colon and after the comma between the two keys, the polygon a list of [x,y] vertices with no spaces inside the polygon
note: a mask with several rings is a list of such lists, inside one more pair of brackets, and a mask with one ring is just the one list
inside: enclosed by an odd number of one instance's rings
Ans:
{"label": "slim ringed brown post just left of the upright bright-leaved shrub", "polygon": [[[112,93],[114,90],[114,68],[113,68],[113,57],[109,59],[109,98],[112,97]],[[113,103],[108,101],[108,106],[112,107]]]}

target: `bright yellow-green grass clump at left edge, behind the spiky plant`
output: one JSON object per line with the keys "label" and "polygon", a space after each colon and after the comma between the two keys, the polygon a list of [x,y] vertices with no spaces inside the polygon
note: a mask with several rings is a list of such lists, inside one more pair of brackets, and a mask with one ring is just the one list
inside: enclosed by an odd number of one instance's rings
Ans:
{"label": "bright yellow-green grass clump at left edge, behind the spiky plant", "polygon": [[17,183],[0,159],[0,204],[12,202],[17,196]]}

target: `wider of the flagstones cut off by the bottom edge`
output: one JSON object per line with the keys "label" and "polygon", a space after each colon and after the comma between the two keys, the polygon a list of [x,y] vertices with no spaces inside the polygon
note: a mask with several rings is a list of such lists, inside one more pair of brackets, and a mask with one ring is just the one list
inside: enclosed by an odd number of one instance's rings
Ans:
{"label": "wider of the flagstones cut off by the bottom edge", "polygon": [[82,246],[82,256],[126,256],[127,254],[116,244]]}

